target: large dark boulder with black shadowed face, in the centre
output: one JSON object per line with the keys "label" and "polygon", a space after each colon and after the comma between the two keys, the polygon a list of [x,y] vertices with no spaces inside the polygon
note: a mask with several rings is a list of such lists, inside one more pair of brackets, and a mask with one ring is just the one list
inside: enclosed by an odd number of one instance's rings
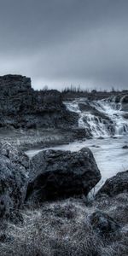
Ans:
{"label": "large dark boulder with black shadowed face, in the centre", "polygon": [[73,153],[42,151],[32,158],[26,200],[38,204],[73,195],[88,195],[100,178],[100,171],[89,148]]}

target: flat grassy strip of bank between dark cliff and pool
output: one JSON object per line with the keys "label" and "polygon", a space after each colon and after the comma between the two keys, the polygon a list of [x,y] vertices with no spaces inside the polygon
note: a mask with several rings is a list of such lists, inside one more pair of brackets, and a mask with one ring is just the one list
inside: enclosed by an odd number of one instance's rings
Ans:
{"label": "flat grassy strip of bank between dark cliff and pool", "polygon": [[9,142],[22,150],[32,148],[47,148],[85,139],[86,131],[80,128],[73,129],[3,129],[0,128],[0,142]]}

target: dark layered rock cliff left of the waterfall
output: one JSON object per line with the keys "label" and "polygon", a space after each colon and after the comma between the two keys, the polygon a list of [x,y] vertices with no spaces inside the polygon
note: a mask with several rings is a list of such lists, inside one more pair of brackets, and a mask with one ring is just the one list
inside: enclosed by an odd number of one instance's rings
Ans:
{"label": "dark layered rock cliff left of the waterfall", "polygon": [[77,124],[57,90],[35,91],[31,79],[20,75],[0,77],[0,127],[63,127]]}

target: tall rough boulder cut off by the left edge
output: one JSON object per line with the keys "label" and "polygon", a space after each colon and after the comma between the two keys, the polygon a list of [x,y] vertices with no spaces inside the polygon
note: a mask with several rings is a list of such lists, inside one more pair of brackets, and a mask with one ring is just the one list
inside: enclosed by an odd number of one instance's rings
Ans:
{"label": "tall rough boulder cut off by the left edge", "polygon": [[26,197],[29,159],[10,144],[0,145],[0,218],[9,218]]}

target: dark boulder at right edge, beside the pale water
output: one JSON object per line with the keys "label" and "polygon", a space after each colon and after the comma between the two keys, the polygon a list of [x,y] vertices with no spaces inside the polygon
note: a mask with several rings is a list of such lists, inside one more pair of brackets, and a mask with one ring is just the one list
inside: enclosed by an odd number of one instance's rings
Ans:
{"label": "dark boulder at right edge, beside the pale water", "polygon": [[96,197],[101,195],[113,197],[124,192],[128,192],[128,171],[118,172],[115,176],[108,178],[97,192]]}

